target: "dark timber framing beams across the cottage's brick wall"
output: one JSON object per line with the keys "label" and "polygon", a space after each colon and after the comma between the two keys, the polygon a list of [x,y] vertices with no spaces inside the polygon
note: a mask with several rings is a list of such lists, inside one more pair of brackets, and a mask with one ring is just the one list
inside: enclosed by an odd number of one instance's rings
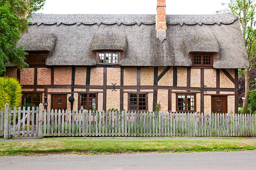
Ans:
{"label": "dark timber framing beams across the cottage's brick wall", "polygon": [[[44,65],[45,67],[45,65]],[[49,67],[49,66],[46,66]],[[91,78],[91,68],[93,66],[87,66],[86,70],[86,85],[75,85],[75,73],[76,67],[72,66],[72,82],[71,85],[54,85],[54,67],[50,66],[51,68],[51,85],[37,85],[37,70],[39,67],[34,67],[34,84],[33,85],[23,85],[23,89],[33,89],[33,91],[28,92],[39,92],[37,89],[45,89],[43,92],[45,95],[48,94],[71,94],[74,95],[75,93],[82,93],[84,91],[74,91],[74,89],[86,89],[86,92],[89,92],[90,89],[102,89],[102,91],[97,93],[103,93],[103,110],[106,110],[106,100],[107,100],[107,89],[113,89],[113,85],[107,85],[107,68],[111,67],[103,67],[103,85],[90,85],[90,78]],[[61,66],[63,67],[63,66]],[[123,94],[127,93],[124,90],[137,90],[137,92],[141,92],[141,90],[153,90],[153,111],[156,110],[155,105],[158,101],[158,90],[168,90],[168,110],[172,110],[172,93],[177,93],[175,90],[184,90],[186,93],[200,93],[200,110],[204,111],[204,96],[205,95],[213,95],[213,94],[204,94],[204,91],[216,91],[215,95],[220,95],[220,91],[222,92],[235,92],[235,112],[238,111],[238,91],[237,91],[237,80],[238,80],[238,70],[235,69],[235,78],[233,78],[227,70],[225,69],[216,69],[216,87],[205,87],[202,92],[200,92],[198,87],[190,87],[190,80],[191,80],[191,68],[187,67],[187,87],[179,87],[177,86],[177,67],[173,67],[173,86],[160,86],[158,82],[161,80],[162,77],[170,70],[170,66],[166,67],[159,75],[158,70],[159,67],[154,67],[154,84],[153,85],[141,85],[141,67],[137,68],[137,85],[123,85],[124,84],[124,67],[120,66],[120,85],[115,85],[115,89],[120,90],[120,110],[123,110],[124,106],[124,98]],[[235,82],[235,88],[220,88],[220,70],[232,81]],[[201,87],[204,85],[204,68],[200,69],[200,85]],[[20,80],[20,71],[17,70],[17,78]],[[71,92],[48,92],[49,88],[53,89],[70,89]],[[192,91],[192,92],[191,92]],[[145,92],[147,93],[147,92]],[[45,101],[47,102],[47,101]],[[176,105],[176,104],[175,104]],[[72,106],[71,106],[72,107]]]}

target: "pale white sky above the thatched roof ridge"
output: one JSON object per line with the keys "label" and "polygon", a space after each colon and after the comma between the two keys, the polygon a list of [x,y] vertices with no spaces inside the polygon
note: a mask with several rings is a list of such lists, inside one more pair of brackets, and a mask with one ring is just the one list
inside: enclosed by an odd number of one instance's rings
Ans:
{"label": "pale white sky above the thatched roof ridge", "polygon": [[[157,0],[46,0],[45,14],[156,14]],[[166,14],[215,14],[230,0],[166,0]]]}

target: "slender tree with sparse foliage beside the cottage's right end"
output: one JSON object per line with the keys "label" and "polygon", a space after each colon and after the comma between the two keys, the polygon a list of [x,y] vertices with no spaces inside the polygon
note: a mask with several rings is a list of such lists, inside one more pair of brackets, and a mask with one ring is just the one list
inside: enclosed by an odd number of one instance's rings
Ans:
{"label": "slender tree with sparse foliage beside the cottage's right end", "polygon": [[[225,5],[225,3],[223,3]],[[248,108],[248,96],[255,90],[250,90],[250,72],[255,67],[256,50],[255,39],[256,30],[253,28],[255,25],[255,0],[230,0],[228,3],[228,11],[237,16],[241,25],[244,44],[247,49],[248,59],[250,61],[250,67],[242,70],[245,80],[244,91],[244,105],[242,113],[247,112]],[[227,11],[224,10],[224,11]]]}

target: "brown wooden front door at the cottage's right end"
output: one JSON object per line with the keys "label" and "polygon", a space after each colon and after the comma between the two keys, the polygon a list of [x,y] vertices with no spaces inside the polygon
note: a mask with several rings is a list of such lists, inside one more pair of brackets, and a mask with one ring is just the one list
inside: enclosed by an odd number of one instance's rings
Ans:
{"label": "brown wooden front door at the cottage's right end", "polygon": [[228,112],[228,96],[212,96],[212,112],[227,113]]}

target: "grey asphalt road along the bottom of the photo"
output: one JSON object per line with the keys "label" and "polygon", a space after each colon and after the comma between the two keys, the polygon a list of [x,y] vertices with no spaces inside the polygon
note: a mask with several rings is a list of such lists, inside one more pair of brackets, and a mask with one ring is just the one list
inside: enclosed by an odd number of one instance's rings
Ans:
{"label": "grey asphalt road along the bottom of the photo", "polygon": [[255,170],[256,151],[0,157],[1,170]]}

